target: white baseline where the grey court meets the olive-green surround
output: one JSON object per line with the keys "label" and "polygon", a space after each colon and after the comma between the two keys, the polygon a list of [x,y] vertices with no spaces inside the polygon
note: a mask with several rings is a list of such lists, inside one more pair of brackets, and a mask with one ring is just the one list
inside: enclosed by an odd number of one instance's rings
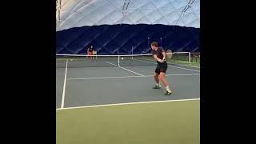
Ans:
{"label": "white baseline where the grey court meets the olive-green surround", "polygon": [[176,100],[166,100],[166,101],[151,101],[151,102],[129,102],[129,103],[116,103],[116,104],[96,105],[96,106],[66,107],[66,108],[63,108],[63,109],[56,109],[56,110],[69,110],[69,109],[80,109],[80,108],[102,107],[102,106],[123,106],[123,105],[134,105],[134,104],[142,104],[142,103],[157,103],[157,102],[198,101],[198,100],[200,100],[200,98],[176,99]]}

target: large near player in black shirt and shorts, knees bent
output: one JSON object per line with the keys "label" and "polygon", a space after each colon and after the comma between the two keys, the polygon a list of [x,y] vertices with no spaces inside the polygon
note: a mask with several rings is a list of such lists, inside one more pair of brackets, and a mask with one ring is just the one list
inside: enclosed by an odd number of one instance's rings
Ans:
{"label": "large near player in black shirt and shorts, knees bent", "polygon": [[167,62],[166,62],[166,52],[162,47],[158,47],[158,42],[152,42],[151,48],[153,50],[153,57],[158,62],[158,66],[154,70],[154,80],[156,82],[156,86],[153,89],[161,89],[161,85],[159,79],[162,81],[163,85],[166,87],[166,94],[170,95],[171,90],[166,81],[166,70],[167,70]]}

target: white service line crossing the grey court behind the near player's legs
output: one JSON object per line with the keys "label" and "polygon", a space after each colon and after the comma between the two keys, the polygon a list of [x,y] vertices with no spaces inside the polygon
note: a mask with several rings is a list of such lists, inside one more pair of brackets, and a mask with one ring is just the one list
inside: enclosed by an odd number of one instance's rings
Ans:
{"label": "white service line crossing the grey court behind the near player's legs", "polygon": [[[186,75],[200,75],[200,74],[166,74],[166,76],[186,76]],[[144,75],[144,76],[124,76],[124,77],[95,77],[95,78],[68,78],[67,80],[83,80],[83,79],[107,79],[107,78],[146,78],[153,77],[154,75]]]}

